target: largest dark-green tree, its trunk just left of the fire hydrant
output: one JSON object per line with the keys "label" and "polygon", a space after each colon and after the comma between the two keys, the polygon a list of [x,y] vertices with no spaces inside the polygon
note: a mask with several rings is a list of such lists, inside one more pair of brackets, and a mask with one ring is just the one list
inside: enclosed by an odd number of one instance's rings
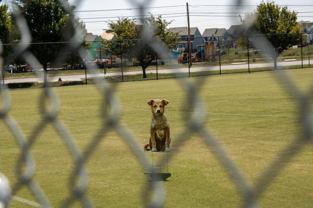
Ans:
{"label": "largest dark-green tree, its trunk just left of the fire hydrant", "polygon": [[85,35],[76,41],[83,41],[87,35],[85,25],[75,17],[73,12],[75,6],[70,5],[68,0],[12,0],[12,2],[22,12],[32,42],[46,43],[32,44],[29,49],[44,68],[46,85],[48,65],[65,50],[64,44],[58,42],[68,41],[78,30],[84,31]]}

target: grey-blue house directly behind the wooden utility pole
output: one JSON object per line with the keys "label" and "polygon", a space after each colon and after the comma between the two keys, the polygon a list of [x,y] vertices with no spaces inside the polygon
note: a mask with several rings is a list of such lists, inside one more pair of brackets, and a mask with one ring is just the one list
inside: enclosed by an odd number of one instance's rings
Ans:
{"label": "grey-blue house directly behind the wooden utility pole", "polygon": [[[188,50],[188,28],[187,27],[172,27],[169,28],[171,32],[178,32],[177,50],[181,51],[184,48],[184,51]],[[197,51],[197,45],[203,45],[204,39],[198,30],[198,27],[190,27],[190,43],[191,51]]]}

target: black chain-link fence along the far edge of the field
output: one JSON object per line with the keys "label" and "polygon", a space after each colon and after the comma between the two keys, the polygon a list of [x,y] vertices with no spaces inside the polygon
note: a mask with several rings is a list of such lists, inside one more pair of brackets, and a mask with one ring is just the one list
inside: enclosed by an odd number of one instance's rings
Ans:
{"label": "black chain-link fence along the far edge of the field", "polygon": [[[313,48],[310,43],[304,42],[304,37],[310,34],[273,34],[263,35],[266,38],[275,36],[276,42],[288,41],[297,38],[298,43],[280,53],[277,58],[277,69],[293,69],[310,67],[310,56]],[[290,36],[290,37],[289,37]],[[36,50],[42,55],[39,62],[49,62],[47,65],[47,80],[52,86],[91,84],[94,79],[103,82],[121,82],[133,80],[163,79],[180,76],[216,75],[226,73],[242,73],[253,71],[273,70],[275,68],[271,51],[262,46],[255,47],[254,41],[261,41],[261,36],[218,36],[185,38],[191,42],[191,58],[189,61],[188,48],[180,42],[186,40],[177,39],[177,48],[164,51],[159,57],[146,67],[146,78],[143,78],[143,69],[134,58],[127,56],[123,51],[123,45],[129,41],[116,41],[115,53],[107,51],[105,40],[92,42],[79,42],[80,50],[84,51],[84,58],[79,56],[77,47],[71,48],[71,43],[40,43],[30,44],[29,51]],[[213,40],[213,47],[207,48]],[[162,40],[161,40],[162,41]],[[139,43],[140,44],[140,43]],[[21,45],[21,44],[20,44]],[[202,45],[202,46],[201,46]],[[36,69],[31,68],[27,61],[16,56],[14,44],[3,46],[4,65],[2,67],[3,84],[9,84],[10,88],[42,87],[45,70],[42,64]],[[53,50],[67,51],[67,57],[60,62],[54,62]],[[205,54],[207,50],[207,55]],[[118,51],[118,52],[116,52]],[[212,54],[213,53],[213,54]],[[205,57],[207,56],[207,57]],[[88,69],[88,70],[87,70]]]}

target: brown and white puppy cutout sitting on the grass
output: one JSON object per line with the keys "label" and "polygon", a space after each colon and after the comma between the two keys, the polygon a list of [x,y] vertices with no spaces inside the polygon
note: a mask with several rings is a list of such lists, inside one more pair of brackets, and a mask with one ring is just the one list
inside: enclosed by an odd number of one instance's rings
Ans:
{"label": "brown and white puppy cutout sitting on the grass", "polygon": [[[170,151],[170,124],[164,113],[165,106],[168,104],[166,99],[150,99],[148,105],[151,106],[151,126],[149,144],[144,146],[145,151],[152,152],[169,152]],[[149,148],[148,148],[149,147]],[[152,148],[151,148],[152,147]]]}

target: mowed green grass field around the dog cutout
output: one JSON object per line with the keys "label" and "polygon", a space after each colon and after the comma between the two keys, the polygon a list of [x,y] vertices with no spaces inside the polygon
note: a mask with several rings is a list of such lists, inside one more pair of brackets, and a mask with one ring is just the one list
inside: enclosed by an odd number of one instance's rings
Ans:
{"label": "mowed green grass field around the dog cutout", "polygon": [[[313,69],[284,70],[301,93],[313,85]],[[205,109],[205,128],[219,140],[247,183],[254,187],[282,151],[301,135],[300,107],[273,72],[214,75],[183,78],[198,83],[204,78],[199,97]],[[12,116],[24,135],[29,136],[42,122],[38,100],[44,89],[9,91]],[[56,87],[60,102],[58,118],[84,151],[101,128],[101,111],[107,106],[97,85]],[[231,177],[203,138],[197,134],[179,149],[178,136],[185,128],[186,92],[178,79],[135,81],[116,84],[121,104],[121,123],[127,125],[142,146],[149,142],[151,111],[149,99],[167,99],[166,114],[171,124],[171,152],[164,181],[164,207],[242,207],[244,199]],[[3,102],[0,95],[0,101]],[[16,166],[21,154],[12,132],[0,120],[0,172],[11,187],[17,182]],[[287,162],[258,198],[261,207],[311,207],[313,204],[313,145],[307,143]],[[35,181],[53,207],[69,196],[73,158],[59,133],[48,124],[32,146],[36,162]],[[145,152],[152,160],[151,152]],[[140,166],[128,144],[116,132],[109,132],[86,164],[88,196],[95,207],[144,207],[143,190],[149,190],[149,172]],[[166,169],[159,169],[166,173]],[[16,196],[38,202],[28,187]],[[146,195],[145,197],[147,197]],[[12,200],[10,207],[31,207]],[[82,207],[76,202],[72,207]]]}

